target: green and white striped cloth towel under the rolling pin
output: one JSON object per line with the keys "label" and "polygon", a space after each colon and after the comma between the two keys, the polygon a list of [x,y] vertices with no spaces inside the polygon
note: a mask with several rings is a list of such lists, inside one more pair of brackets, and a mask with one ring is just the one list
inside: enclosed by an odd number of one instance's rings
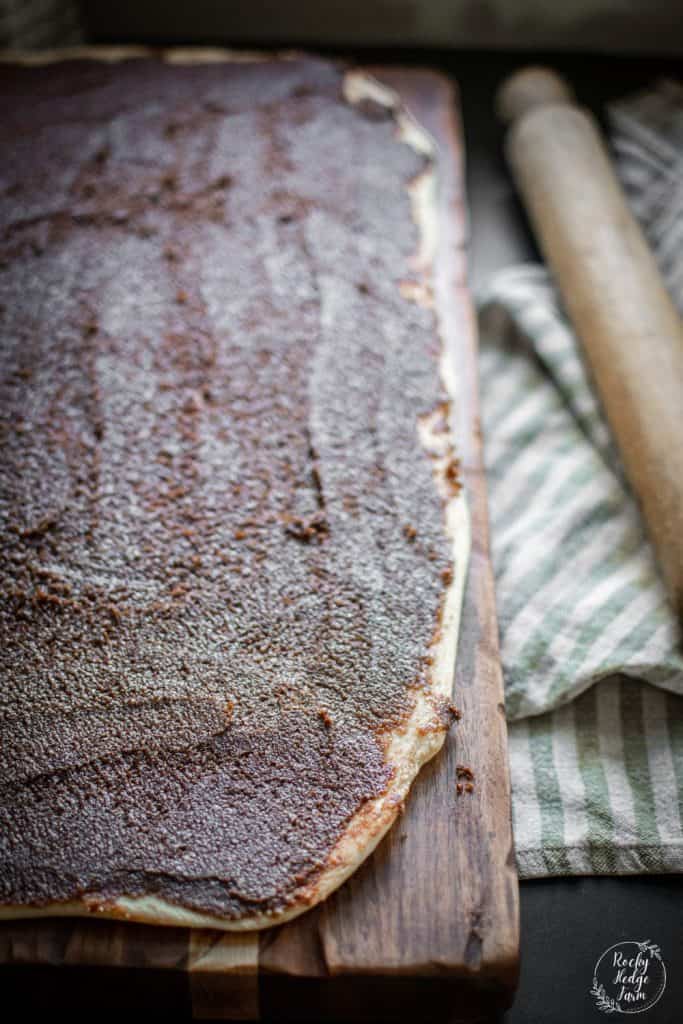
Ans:
{"label": "green and white striped cloth towel under the rolling pin", "polygon": [[[683,309],[683,89],[611,117]],[[498,274],[480,332],[520,876],[683,870],[683,648],[547,271]]]}

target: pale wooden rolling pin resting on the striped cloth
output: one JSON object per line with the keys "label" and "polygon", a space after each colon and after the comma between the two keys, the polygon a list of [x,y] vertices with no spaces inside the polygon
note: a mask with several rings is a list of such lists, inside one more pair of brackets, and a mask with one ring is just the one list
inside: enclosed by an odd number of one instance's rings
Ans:
{"label": "pale wooden rolling pin resting on the striped cloth", "polygon": [[[508,79],[507,156],[683,622],[683,324],[596,122],[553,72]],[[606,553],[607,554],[607,553]]]}

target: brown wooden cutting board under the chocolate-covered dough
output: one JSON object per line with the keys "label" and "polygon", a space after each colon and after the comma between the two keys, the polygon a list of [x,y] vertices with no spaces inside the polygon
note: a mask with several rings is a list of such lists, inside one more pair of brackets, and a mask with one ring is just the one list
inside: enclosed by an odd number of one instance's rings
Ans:
{"label": "brown wooden cutting board under the chocolate-covered dough", "polygon": [[[96,51],[93,52],[96,55]],[[509,1005],[518,969],[503,682],[488,552],[476,334],[465,279],[463,145],[451,82],[372,69],[439,147],[438,307],[457,345],[472,552],[456,668],[462,720],[402,818],[339,891],[291,924],[233,936],[78,919],[0,925],[3,997],[25,1009],[198,1018],[473,1020]],[[457,793],[458,766],[474,773]],[[12,994],[14,994],[12,992]]]}

